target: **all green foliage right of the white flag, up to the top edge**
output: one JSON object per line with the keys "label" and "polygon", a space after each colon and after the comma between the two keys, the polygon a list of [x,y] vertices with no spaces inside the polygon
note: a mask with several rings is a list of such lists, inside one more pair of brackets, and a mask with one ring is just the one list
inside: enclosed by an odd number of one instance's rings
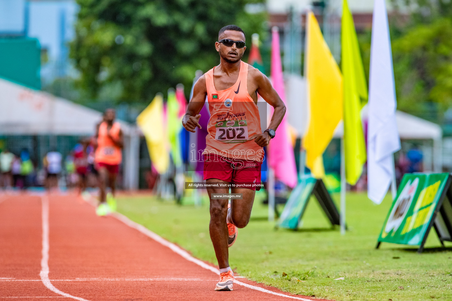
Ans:
{"label": "all green foliage right of the white flag, up to the top edge", "polygon": [[432,104],[439,109],[451,106],[452,1],[392,2],[396,12],[410,13],[407,23],[391,26],[398,107],[415,113]]}

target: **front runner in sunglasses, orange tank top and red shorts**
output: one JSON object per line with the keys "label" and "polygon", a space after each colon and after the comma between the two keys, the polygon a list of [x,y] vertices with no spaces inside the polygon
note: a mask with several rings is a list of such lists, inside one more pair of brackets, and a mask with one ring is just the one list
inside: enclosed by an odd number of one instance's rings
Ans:
{"label": "front runner in sunglasses, orange tank top and red shorts", "polygon": [[[220,65],[210,69],[195,83],[182,124],[195,132],[199,112],[208,97],[211,118],[207,125],[204,150],[204,180],[207,184],[260,183],[263,147],[275,136],[286,107],[268,78],[258,69],[244,63],[245,33],[238,26],[228,25],[218,32],[215,48]],[[268,129],[260,128],[258,93],[274,108]],[[243,199],[214,199],[212,194],[227,194],[229,188],[207,188],[210,199],[209,232],[218,266],[220,282],[216,291],[232,291],[234,273],[229,266],[228,247],[237,238],[237,228],[250,221],[256,187],[231,188]],[[259,190],[259,188],[258,188]]]}

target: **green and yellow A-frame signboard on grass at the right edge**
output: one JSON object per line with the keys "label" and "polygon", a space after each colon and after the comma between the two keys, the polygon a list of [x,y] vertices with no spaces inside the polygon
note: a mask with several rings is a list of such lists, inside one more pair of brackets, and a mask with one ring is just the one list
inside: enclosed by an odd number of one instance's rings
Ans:
{"label": "green and yellow A-frame signboard on grass at the right edge", "polygon": [[381,242],[391,242],[419,245],[421,252],[432,226],[441,242],[451,240],[452,207],[446,198],[450,185],[448,173],[405,174],[381,229],[377,248]]}

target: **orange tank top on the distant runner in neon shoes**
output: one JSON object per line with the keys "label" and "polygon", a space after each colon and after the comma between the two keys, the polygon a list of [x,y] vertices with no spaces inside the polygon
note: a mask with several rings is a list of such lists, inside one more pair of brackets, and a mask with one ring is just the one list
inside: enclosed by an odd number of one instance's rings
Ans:
{"label": "orange tank top on the distant runner in neon shoes", "polygon": [[[122,152],[113,140],[108,137],[107,131],[108,124],[104,121],[99,125],[99,135],[97,137],[97,149],[94,155],[96,163],[105,163],[111,165],[120,164],[122,161]],[[110,134],[114,139],[119,139],[119,131],[121,126],[118,122],[114,122]]]}

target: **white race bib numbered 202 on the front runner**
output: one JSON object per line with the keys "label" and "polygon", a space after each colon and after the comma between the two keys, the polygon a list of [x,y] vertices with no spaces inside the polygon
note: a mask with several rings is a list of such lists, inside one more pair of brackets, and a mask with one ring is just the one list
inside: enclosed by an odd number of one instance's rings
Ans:
{"label": "white race bib numbered 202 on the front runner", "polygon": [[220,121],[215,125],[215,140],[224,143],[243,143],[248,140],[246,120]]}

